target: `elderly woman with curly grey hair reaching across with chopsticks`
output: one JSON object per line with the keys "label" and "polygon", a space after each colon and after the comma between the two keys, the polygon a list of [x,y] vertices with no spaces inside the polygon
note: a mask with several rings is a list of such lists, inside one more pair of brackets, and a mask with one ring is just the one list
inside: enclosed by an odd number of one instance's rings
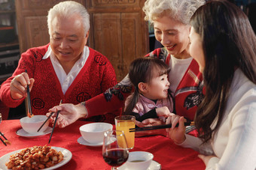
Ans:
{"label": "elderly woman with curly grey hair reaching across with chopsticks", "polygon": [[[195,10],[204,4],[204,0],[148,0],[143,10],[145,19],[154,26],[156,39],[164,48],[155,49],[146,56],[154,56],[166,62],[171,67],[169,73],[170,90],[175,98],[175,112],[185,118],[194,120],[197,105],[203,98],[203,76],[199,66],[189,54],[190,17]],[[90,117],[98,113],[104,114],[124,105],[124,99],[130,95],[130,79],[126,76],[120,83],[85,102],[86,111],[81,112],[83,105],[65,104],[50,109],[51,112],[60,110],[59,127],[66,127],[77,118]],[[101,106],[97,106],[101,103]],[[157,112],[157,115],[169,115],[168,109]],[[158,123],[157,123],[158,122]],[[159,121],[148,119],[137,122],[138,126],[159,124]],[[164,130],[162,130],[163,132]],[[165,133],[166,134],[166,133]]]}

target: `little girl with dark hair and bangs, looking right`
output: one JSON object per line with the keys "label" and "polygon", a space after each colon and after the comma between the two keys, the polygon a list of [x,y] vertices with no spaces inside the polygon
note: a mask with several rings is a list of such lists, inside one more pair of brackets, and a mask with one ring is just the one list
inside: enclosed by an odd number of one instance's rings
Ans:
{"label": "little girl with dark hair and bangs, looking right", "polygon": [[161,112],[171,113],[169,94],[169,67],[158,58],[137,58],[130,64],[129,78],[135,90],[127,97],[124,112],[137,121],[158,118]]}

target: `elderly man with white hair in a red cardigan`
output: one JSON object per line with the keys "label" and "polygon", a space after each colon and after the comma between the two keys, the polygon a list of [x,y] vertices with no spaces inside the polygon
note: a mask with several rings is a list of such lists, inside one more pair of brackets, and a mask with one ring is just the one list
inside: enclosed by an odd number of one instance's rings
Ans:
{"label": "elderly man with white hair in a red cardigan", "polygon": [[[90,16],[83,5],[75,1],[56,4],[49,10],[47,24],[50,43],[24,52],[14,74],[0,89],[2,102],[17,107],[27,96],[29,85],[34,115],[45,115],[60,100],[81,103],[117,82],[108,59],[86,46]],[[93,121],[113,122],[114,117]]]}

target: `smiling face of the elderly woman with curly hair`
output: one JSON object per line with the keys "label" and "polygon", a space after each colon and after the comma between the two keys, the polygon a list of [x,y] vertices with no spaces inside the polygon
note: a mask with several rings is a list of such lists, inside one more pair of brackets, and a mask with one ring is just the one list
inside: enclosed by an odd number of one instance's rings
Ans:
{"label": "smiling face of the elderly woman with curly hair", "polygon": [[189,29],[190,25],[178,22],[169,16],[154,20],[156,39],[166,47],[168,53],[175,58],[189,58]]}

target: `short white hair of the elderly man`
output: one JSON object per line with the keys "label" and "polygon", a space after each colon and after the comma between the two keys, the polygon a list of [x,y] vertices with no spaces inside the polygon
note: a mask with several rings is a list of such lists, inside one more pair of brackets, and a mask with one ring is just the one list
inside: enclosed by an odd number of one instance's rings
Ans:
{"label": "short white hair of the elderly man", "polygon": [[62,1],[50,8],[47,16],[48,31],[50,34],[51,22],[56,16],[69,17],[74,14],[81,16],[84,25],[84,34],[90,29],[90,15],[87,9],[76,1]]}

